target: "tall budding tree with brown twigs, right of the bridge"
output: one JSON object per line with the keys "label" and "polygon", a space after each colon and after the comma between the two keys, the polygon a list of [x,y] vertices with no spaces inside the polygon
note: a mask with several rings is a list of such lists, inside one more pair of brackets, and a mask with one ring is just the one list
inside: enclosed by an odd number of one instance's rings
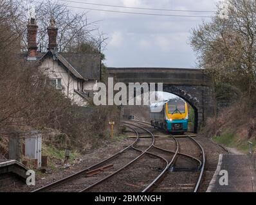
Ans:
{"label": "tall budding tree with brown twigs, right of the bridge", "polygon": [[249,96],[256,91],[255,17],[255,1],[228,0],[226,18],[203,22],[191,37],[199,66],[205,67],[215,84],[235,85]]}

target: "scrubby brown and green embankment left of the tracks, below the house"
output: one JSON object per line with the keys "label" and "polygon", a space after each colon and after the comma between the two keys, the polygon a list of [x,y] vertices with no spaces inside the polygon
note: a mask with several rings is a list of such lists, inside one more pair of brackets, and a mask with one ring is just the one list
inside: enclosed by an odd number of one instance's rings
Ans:
{"label": "scrubby brown and green embankment left of the tracks, below the house", "polygon": [[[92,111],[90,111],[92,110]],[[120,135],[120,112],[118,108],[104,107],[97,109],[80,108],[79,121],[73,122],[64,130],[44,128],[39,130],[42,134],[42,156],[48,157],[48,173],[57,172],[63,168],[80,163],[84,154],[104,147],[111,142],[123,139]],[[75,110],[77,113],[79,110]],[[75,115],[75,114],[74,114]],[[110,137],[109,121],[115,122],[114,138]],[[24,145],[26,135],[20,136],[21,145]],[[8,159],[10,136],[0,136],[0,160]],[[24,146],[23,146],[24,147]],[[69,160],[66,160],[69,153]],[[25,156],[24,149],[21,153],[21,162],[33,169],[33,160]]]}

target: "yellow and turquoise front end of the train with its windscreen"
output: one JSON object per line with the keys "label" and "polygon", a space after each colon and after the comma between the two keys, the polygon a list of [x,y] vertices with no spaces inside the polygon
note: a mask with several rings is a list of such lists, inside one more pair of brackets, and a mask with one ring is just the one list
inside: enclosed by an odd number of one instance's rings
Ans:
{"label": "yellow and turquoise front end of the train with its windscreen", "polygon": [[188,104],[183,99],[170,99],[165,103],[165,129],[184,133],[188,129]]}

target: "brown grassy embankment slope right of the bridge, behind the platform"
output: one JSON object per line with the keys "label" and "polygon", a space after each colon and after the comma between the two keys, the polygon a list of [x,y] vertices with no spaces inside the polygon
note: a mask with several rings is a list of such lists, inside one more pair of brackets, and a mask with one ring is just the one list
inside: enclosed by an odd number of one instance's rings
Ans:
{"label": "brown grassy embankment slope right of the bridge, behind the platform", "polygon": [[240,101],[219,111],[217,118],[208,119],[202,133],[225,147],[248,152],[256,148],[256,107]]}

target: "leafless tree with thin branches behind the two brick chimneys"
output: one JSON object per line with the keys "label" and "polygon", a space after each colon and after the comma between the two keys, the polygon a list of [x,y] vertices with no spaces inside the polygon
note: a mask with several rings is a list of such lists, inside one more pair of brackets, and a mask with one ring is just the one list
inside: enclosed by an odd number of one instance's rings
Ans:
{"label": "leafless tree with thin branches behind the two brick chimneys", "polygon": [[[3,1],[3,0],[2,0]],[[84,43],[93,45],[93,51],[98,47],[98,43],[102,41],[102,35],[96,37],[98,27],[96,21],[89,22],[86,12],[76,13],[70,10],[66,4],[59,1],[48,0],[39,3],[34,0],[4,0],[10,2],[13,6],[12,12],[19,13],[17,18],[12,19],[15,30],[21,35],[22,49],[27,49],[26,25],[28,24],[29,13],[35,8],[37,24],[39,26],[37,35],[37,44],[42,52],[47,51],[48,35],[47,28],[50,26],[50,19],[55,19],[58,31],[58,47],[60,52],[69,51],[71,47],[76,47]],[[92,51],[91,51],[92,52]]]}

